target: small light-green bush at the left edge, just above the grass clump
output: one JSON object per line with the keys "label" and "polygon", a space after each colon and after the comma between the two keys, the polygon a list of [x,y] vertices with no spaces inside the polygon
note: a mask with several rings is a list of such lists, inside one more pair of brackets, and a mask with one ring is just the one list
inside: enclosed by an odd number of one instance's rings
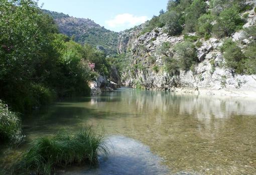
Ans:
{"label": "small light-green bush at the left edge, just above the grass clump", "polygon": [[0,143],[19,143],[23,137],[19,117],[0,100]]}

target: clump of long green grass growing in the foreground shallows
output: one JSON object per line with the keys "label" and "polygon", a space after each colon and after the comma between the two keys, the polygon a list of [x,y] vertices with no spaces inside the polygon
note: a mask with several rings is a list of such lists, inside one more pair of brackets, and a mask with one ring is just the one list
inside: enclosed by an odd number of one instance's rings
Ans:
{"label": "clump of long green grass growing in the foreground shallows", "polygon": [[24,174],[52,174],[54,167],[98,162],[97,153],[107,154],[103,131],[96,134],[91,126],[76,134],[60,132],[51,137],[35,139],[31,148],[16,163],[15,169]]}

